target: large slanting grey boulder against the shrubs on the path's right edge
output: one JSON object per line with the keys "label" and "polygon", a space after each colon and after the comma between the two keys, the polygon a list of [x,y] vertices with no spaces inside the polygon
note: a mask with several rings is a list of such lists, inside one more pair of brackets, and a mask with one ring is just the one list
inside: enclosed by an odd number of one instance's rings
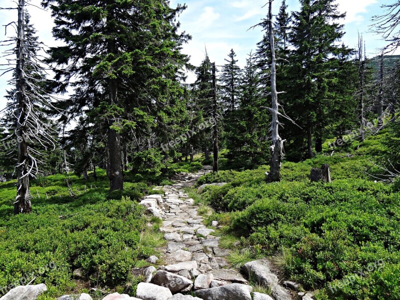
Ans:
{"label": "large slanting grey boulder against the shrubs on the path's right edge", "polygon": [[278,283],[278,277],[271,272],[268,260],[249,261],[244,264],[244,270],[259,285],[272,287]]}

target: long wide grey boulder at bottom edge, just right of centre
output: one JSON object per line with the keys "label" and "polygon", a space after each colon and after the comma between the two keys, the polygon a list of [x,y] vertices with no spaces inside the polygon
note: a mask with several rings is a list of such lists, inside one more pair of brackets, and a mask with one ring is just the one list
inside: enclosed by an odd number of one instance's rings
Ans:
{"label": "long wide grey boulder at bottom edge, just right of centre", "polygon": [[232,283],[206,289],[199,289],[196,296],[203,300],[251,300],[252,287],[240,283]]}

